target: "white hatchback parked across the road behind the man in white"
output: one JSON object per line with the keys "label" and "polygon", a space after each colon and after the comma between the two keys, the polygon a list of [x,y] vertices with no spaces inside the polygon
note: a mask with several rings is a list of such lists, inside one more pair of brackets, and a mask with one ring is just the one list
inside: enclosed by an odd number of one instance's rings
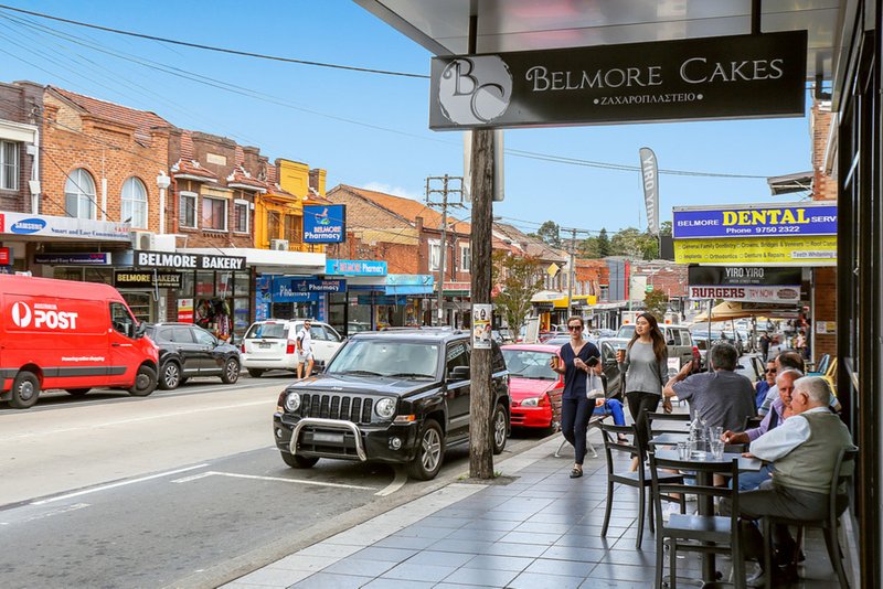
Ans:
{"label": "white hatchback parked across the road behind the man in white", "polygon": [[[266,371],[297,372],[297,344],[295,340],[304,326],[302,319],[268,319],[252,323],[242,342],[242,366],[258,377]],[[317,370],[331,360],[343,341],[334,329],[320,321],[311,321],[312,354]]]}

